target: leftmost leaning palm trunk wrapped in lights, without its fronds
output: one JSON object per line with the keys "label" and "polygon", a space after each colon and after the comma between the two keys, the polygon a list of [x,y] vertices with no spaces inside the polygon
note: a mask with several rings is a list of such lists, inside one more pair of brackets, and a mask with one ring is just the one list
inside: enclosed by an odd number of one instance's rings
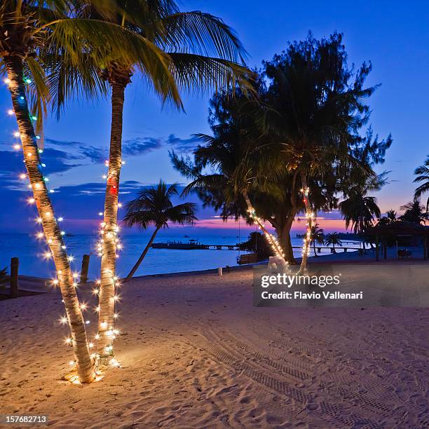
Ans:
{"label": "leftmost leaning palm trunk wrapped in lights, without its fronds", "polygon": [[60,285],[62,299],[69,321],[79,381],[81,381],[81,383],[90,383],[95,378],[95,372],[88,349],[85,323],[83,321],[81,308],[79,307],[79,299],[73,284],[73,275],[67,259],[61,231],[57,225],[53,206],[48,196],[48,189],[46,189],[46,183],[41,172],[39,150],[37,148],[36,136],[34,135],[34,128],[30,120],[27,98],[25,95],[22,60],[20,57],[16,56],[6,57],[4,61],[6,63],[8,79],[10,79],[9,89],[11,90],[13,109],[18,122],[22,150],[24,151],[25,166],[41,219],[43,233],[48,241],[50,253],[55,263],[57,280]]}

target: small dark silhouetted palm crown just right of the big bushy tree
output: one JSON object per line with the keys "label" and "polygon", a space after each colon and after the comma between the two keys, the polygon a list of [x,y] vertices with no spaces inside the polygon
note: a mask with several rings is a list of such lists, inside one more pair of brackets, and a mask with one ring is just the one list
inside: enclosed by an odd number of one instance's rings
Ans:
{"label": "small dark silhouetted palm crown just right of the big bushy tree", "polygon": [[345,192],[346,200],[339,203],[339,209],[346,221],[346,228],[351,225],[354,233],[364,233],[374,223],[374,217],[381,216],[375,197],[367,196],[369,191],[379,191],[387,183],[387,172],[378,176],[369,176],[363,184],[350,186]]}

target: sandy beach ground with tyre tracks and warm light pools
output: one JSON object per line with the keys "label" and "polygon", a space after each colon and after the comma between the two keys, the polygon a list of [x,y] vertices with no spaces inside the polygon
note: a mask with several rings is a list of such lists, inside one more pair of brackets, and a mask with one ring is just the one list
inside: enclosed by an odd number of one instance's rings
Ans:
{"label": "sandy beach ground with tyre tracks and warm light pools", "polygon": [[425,308],[254,308],[243,270],[132,280],[118,311],[121,368],[74,386],[58,292],[1,301],[0,414],[58,428],[429,426]]}

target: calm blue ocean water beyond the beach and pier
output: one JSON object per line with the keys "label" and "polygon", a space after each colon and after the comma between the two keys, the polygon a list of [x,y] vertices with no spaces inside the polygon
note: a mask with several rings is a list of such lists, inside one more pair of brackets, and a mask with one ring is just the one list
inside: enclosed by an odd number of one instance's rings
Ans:
{"label": "calm blue ocean water beyond the beach and pier", "polygon": [[[217,230],[219,232],[219,230]],[[185,236],[183,231],[175,233],[172,229],[168,233],[160,231],[156,236],[155,243],[165,242],[167,240],[189,239],[199,240],[203,244],[213,245],[235,245],[238,243],[238,237],[231,230],[225,230],[213,234],[210,231],[198,231],[196,234],[189,233]],[[123,250],[119,252],[117,260],[118,276],[125,276],[134,266],[139,255],[149,240],[150,233],[141,233],[135,235],[121,236]],[[246,238],[242,238],[244,241]],[[67,252],[74,257],[71,266],[74,271],[81,271],[81,262],[83,254],[90,254],[90,266],[88,278],[95,280],[100,277],[100,257],[97,256],[95,245],[97,236],[95,235],[76,235],[64,238],[67,245]],[[292,238],[292,245],[300,246],[300,238]],[[343,242],[343,245],[346,245]],[[350,244],[348,244],[350,245]],[[20,259],[20,274],[34,275],[36,277],[53,278],[55,268],[53,261],[46,260],[43,254],[46,252],[46,245],[37,240],[34,235],[29,234],[2,234],[0,236],[0,268],[9,267],[11,257]],[[322,250],[329,253],[329,250]],[[245,253],[245,252],[244,252]],[[241,251],[243,254],[243,251]],[[311,252],[313,254],[313,250]],[[295,255],[299,257],[301,251],[296,250]],[[170,249],[150,249],[147,256],[135,275],[175,273],[181,271],[199,271],[219,266],[237,265],[238,250],[170,250]]]}

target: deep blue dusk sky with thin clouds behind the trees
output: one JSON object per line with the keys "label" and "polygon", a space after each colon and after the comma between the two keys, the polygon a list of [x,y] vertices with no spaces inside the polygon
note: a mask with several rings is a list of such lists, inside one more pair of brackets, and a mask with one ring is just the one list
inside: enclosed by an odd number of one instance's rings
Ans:
{"label": "deep blue dusk sky with thin clouds behind the trees", "polygon": [[[341,6],[339,6],[341,4]],[[414,168],[429,153],[427,83],[429,69],[429,4],[426,1],[183,1],[182,10],[199,9],[217,15],[231,25],[249,53],[247,64],[260,67],[261,60],[286,48],[287,41],[304,39],[311,30],[315,37],[343,32],[349,63],[371,60],[373,71],[368,85],[381,83],[371,98],[371,123],[380,138],[391,132],[393,145],[386,163],[378,170],[390,170],[390,184],[376,193],[381,210],[398,210],[412,199]],[[243,12],[245,11],[245,13]],[[161,102],[145,83],[134,76],[125,95],[122,200],[130,199],[142,184],[184,179],[170,164],[168,150],[191,153],[195,132],[210,132],[207,108],[210,94],[184,96],[186,113]],[[12,149],[17,129],[8,89],[0,85],[0,168],[3,186],[0,231],[32,231],[29,219],[34,208],[27,207],[26,183],[17,179],[24,171],[22,153]],[[3,114],[1,114],[3,112]],[[100,220],[103,207],[110,131],[109,100],[70,105],[60,121],[48,118],[43,162],[48,168],[50,188],[57,214],[69,219],[69,229],[90,232]],[[201,226],[222,226],[210,210],[198,213]],[[338,214],[321,214],[338,218]],[[91,219],[88,222],[88,219]],[[339,222],[322,223],[339,229]],[[233,224],[230,225],[233,227]]]}

